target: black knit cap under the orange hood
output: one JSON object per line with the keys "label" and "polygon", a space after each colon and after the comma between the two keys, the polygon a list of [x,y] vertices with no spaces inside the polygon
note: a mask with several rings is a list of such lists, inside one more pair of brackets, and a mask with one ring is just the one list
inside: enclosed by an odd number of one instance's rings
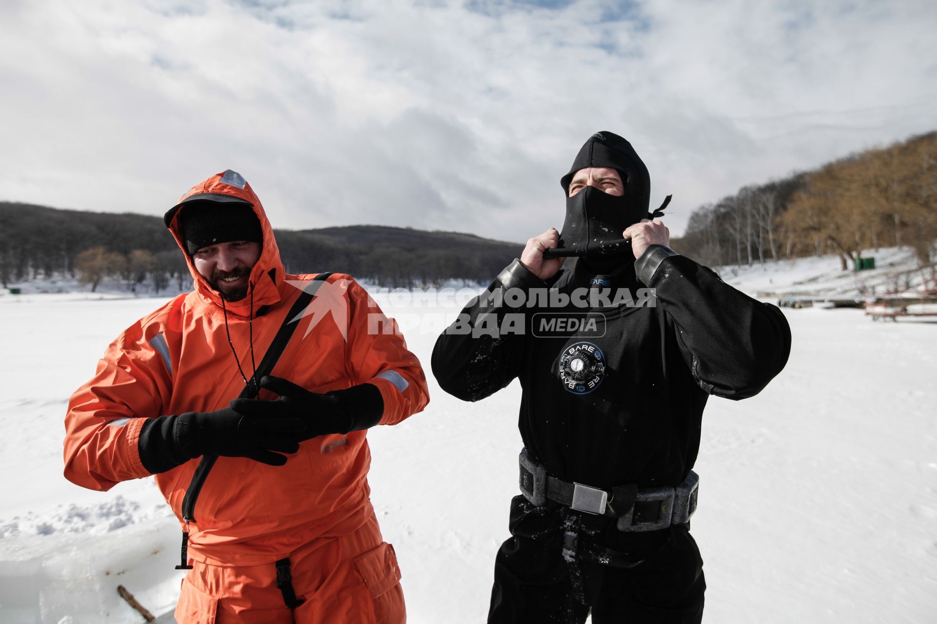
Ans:
{"label": "black knit cap under the orange hood", "polygon": [[189,255],[231,240],[263,242],[260,220],[247,202],[201,199],[186,203],[179,214],[179,233]]}

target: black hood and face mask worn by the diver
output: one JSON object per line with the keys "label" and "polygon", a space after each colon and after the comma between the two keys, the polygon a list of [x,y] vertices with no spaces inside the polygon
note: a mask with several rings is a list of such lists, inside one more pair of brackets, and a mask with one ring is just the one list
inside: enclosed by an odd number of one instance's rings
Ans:
{"label": "black hood and face mask worn by the diver", "polygon": [[[570,197],[573,176],[586,167],[617,169],[624,185],[624,195],[609,195],[594,186],[587,186]],[[621,233],[629,225],[647,219],[650,176],[631,143],[611,132],[595,133],[576,154],[573,167],[559,183],[567,196],[566,221],[559,236],[559,247],[550,255],[600,260],[632,253],[631,241],[623,239]]]}

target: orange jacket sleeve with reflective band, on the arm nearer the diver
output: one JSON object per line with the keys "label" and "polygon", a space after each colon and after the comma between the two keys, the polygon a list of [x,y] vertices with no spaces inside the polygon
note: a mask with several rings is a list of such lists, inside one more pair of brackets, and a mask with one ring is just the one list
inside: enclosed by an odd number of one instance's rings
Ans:
{"label": "orange jacket sleeve with reflective band, on the arm nearer the diver", "polygon": [[364,288],[349,279],[348,353],[358,384],[377,385],[384,401],[379,425],[395,425],[429,402],[420,360],[407,349],[396,322],[380,311]]}

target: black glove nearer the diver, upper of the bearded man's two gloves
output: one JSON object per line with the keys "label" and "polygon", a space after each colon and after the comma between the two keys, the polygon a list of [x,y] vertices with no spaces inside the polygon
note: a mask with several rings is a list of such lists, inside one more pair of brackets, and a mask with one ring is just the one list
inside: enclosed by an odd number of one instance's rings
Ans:
{"label": "black glove nearer the diver, upper of the bearded man's two gloves", "polygon": [[327,433],[348,433],[374,427],[384,414],[384,399],[377,385],[354,385],[326,394],[309,392],[286,379],[265,376],[260,387],[279,395],[276,400],[234,399],[231,409],[257,418],[301,418],[305,430],[294,440],[309,440]]}

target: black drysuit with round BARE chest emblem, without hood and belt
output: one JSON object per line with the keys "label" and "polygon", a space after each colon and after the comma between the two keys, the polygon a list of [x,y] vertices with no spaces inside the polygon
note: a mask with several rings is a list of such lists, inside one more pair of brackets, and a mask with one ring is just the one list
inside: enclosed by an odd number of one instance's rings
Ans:
{"label": "black drysuit with round BARE chest emblem, without hood and belt", "polygon": [[[439,337],[433,372],[440,387],[471,401],[519,378],[521,437],[553,476],[604,489],[677,486],[696,459],[706,399],[757,394],[784,367],[790,329],[775,306],[666,247],[615,263],[609,271],[605,262],[602,272],[613,275],[603,283],[629,288],[635,299],[647,284],[656,289],[650,297],[656,305],[544,311],[493,308],[490,301],[482,307],[476,298],[463,311],[468,317]],[[488,292],[571,293],[588,288],[596,270],[580,258],[547,284],[515,260]],[[503,319],[518,312],[525,314],[523,334],[464,331],[466,321],[479,327],[486,314]],[[602,314],[604,327],[573,336],[554,326],[544,334],[543,312],[547,319],[556,312]],[[568,561],[563,533],[571,528],[580,535],[579,555]],[[498,551],[489,622],[581,622],[590,607],[595,624],[702,617],[702,560],[687,525],[622,532],[614,519],[552,502],[538,508],[518,496],[511,532]],[[617,553],[611,564],[599,562],[606,550]]]}

